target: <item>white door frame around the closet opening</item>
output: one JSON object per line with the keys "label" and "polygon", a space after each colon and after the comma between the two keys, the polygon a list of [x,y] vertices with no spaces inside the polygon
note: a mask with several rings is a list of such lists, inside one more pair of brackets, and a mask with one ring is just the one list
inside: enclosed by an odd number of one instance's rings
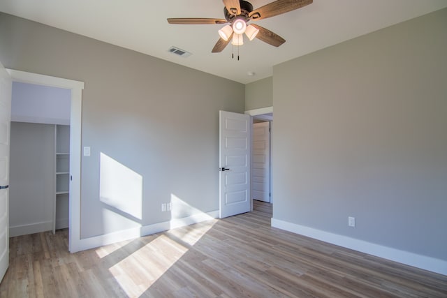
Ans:
{"label": "white door frame around the closet opening", "polygon": [[84,82],[51,77],[37,73],[8,69],[13,82],[38,84],[71,90],[70,114],[70,202],[68,211],[68,250],[79,251],[80,247],[80,195],[81,195],[81,120],[82,90]]}

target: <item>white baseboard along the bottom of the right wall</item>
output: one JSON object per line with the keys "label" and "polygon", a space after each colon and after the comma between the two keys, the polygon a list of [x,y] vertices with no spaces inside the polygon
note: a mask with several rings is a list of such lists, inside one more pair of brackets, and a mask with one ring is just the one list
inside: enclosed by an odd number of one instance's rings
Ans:
{"label": "white baseboard along the bottom of the right wall", "polygon": [[272,227],[293,232],[295,234],[302,234],[303,236],[311,237],[345,248],[350,248],[362,253],[368,253],[369,255],[375,255],[394,262],[400,262],[405,265],[447,275],[447,261],[445,260],[431,258],[425,255],[418,255],[416,253],[409,253],[408,251],[401,251],[396,248],[381,246],[379,244],[374,244],[339,234],[316,230],[304,225],[297,225],[295,223],[289,223],[288,221],[281,221],[275,218],[272,218]]}

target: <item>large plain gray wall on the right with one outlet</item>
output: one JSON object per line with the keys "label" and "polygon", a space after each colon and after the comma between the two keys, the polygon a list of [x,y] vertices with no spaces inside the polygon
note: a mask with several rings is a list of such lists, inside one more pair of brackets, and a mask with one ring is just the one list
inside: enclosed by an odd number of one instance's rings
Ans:
{"label": "large plain gray wall on the right with one outlet", "polygon": [[444,9],[274,67],[274,218],[447,260],[446,29]]}

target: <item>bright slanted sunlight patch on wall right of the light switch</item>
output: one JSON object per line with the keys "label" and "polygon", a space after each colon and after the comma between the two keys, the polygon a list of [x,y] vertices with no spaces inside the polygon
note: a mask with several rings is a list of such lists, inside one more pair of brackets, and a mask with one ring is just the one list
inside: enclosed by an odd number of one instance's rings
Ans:
{"label": "bright slanted sunlight patch on wall right of the light switch", "polygon": [[101,202],[142,219],[142,176],[101,152],[99,197]]}

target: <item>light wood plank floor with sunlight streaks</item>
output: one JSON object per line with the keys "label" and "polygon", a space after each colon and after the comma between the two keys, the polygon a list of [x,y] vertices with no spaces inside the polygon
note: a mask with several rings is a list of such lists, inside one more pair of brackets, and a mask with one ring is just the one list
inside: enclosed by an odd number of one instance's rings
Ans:
{"label": "light wood plank floor with sunlight streaks", "polygon": [[10,239],[0,297],[447,297],[447,276],[270,227],[272,207],[68,253]]}

